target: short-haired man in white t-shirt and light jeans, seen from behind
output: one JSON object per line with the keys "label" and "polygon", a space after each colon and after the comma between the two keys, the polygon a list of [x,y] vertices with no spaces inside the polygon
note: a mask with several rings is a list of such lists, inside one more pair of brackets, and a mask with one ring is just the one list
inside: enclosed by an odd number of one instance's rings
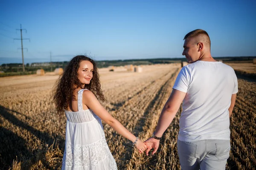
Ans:
{"label": "short-haired man in white t-shirt and light jeans, seen from behind", "polygon": [[238,92],[236,74],[210,53],[206,31],[196,29],[184,37],[189,65],[177,76],[172,94],[161,112],[153,136],[145,141],[146,154],[154,148],[175,117],[181,102],[177,148],[182,170],[224,170],[230,151],[230,120]]}

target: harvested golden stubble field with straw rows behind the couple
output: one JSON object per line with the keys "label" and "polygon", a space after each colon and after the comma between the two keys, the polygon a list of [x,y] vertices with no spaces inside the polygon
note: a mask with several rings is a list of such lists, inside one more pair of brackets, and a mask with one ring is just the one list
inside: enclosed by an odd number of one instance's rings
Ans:
{"label": "harvested golden stubble field with straw rows behind the couple", "polygon": [[[229,63],[238,70],[239,93],[230,118],[231,151],[227,169],[256,169],[255,65]],[[143,65],[143,72],[99,69],[104,107],[128,130],[148,139],[172,92],[180,64]],[[248,70],[250,68],[250,70]],[[249,75],[249,76],[247,76]],[[61,169],[66,118],[55,115],[51,90],[58,76],[0,78],[0,168]],[[103,123],[119,170],[180,170],[177,156],[178,111],[154,156],[139,154],[131,142]]]}

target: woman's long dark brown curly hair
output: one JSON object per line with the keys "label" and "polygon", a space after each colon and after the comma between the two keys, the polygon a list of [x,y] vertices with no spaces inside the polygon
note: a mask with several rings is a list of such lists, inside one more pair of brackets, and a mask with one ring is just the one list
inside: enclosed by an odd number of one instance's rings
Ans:
{"label": "woman's long dark brown curly hair", "polygon": [[[81,61],[90,61],[93,64],[93,77],[90,81],[90,84],[83,85],[78,79],[78,69]],[[93,59],[90,59],[87,56],[79,55],[73,57],[65,68],[64,72],[61,74],[57,80],[55,87],[52,91],[53,93],[53,102],[56,106],[57,114],[59,116],[64,114],[64,109],[67,110],[68,102],[76,100],[76,96],[73,95],[73,91],[76,88],[87,88],[102,101],[105,101],[105,97],[102,93],[99,73],[96,67],[96,63]]]}

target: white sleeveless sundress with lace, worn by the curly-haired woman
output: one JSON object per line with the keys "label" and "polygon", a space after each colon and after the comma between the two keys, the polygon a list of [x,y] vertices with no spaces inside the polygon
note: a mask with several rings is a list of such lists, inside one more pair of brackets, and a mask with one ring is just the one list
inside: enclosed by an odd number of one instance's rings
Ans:
{"label": "white sleeveless sundress with lace, worn by the curly-haired woman", "polygon": [[83,91],[78,91],[78,111],[67,116],[62,170],[117,170],[105,139],[101,119],[92,110],[83,110]]}

